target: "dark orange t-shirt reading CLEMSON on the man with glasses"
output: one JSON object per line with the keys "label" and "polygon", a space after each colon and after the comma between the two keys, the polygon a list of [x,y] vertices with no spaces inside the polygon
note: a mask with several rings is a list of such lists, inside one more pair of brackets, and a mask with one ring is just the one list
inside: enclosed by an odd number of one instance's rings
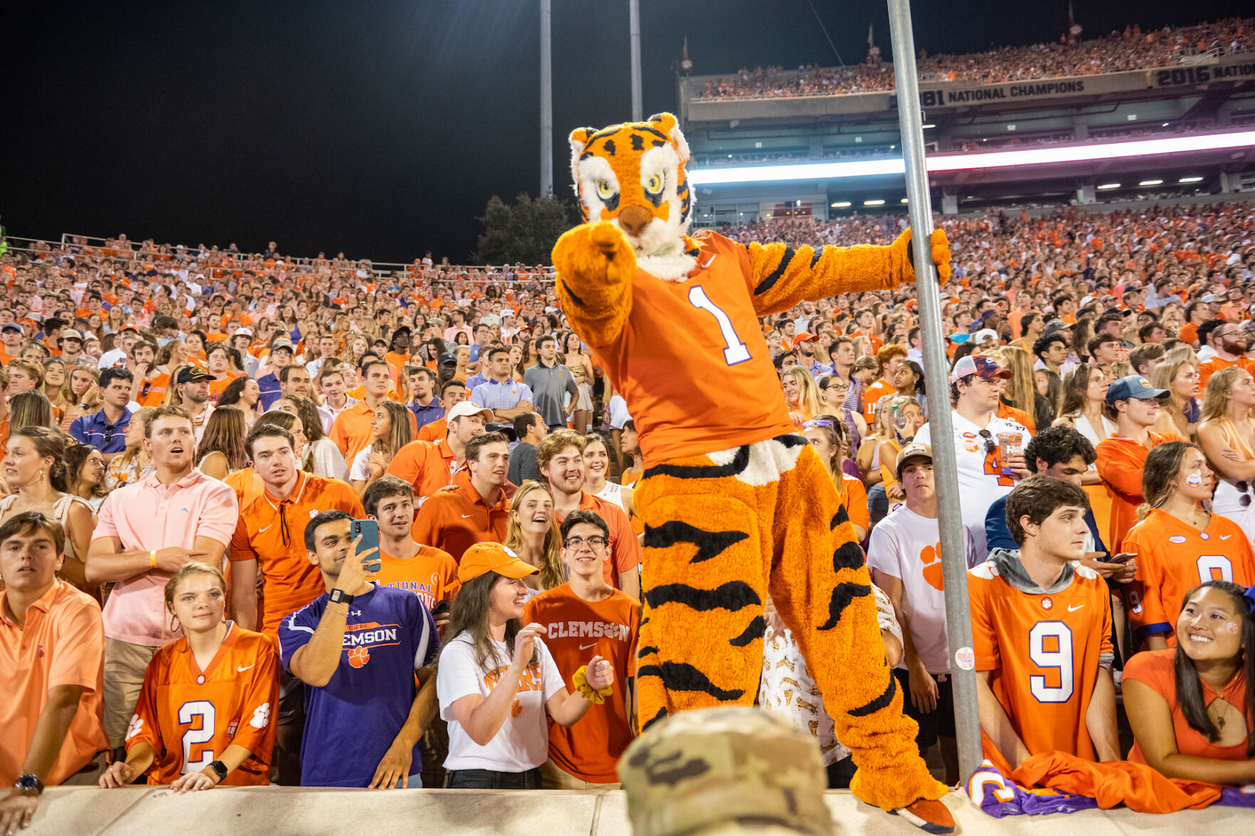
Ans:
{"label": "dark orange t-shirt reading CLEMSON on the man with glasses", "polygon": [[640,601],[619,590],[586,601],[562,584],[530,599],[523,620],[545,625],[545,646],[565,682],[595,655],[614,667],[614,689],[604,703],[590,705],[571,728],[551,719],[548,729],[550,758],[558,768],[590,783],[616,783],[619,756],[633,739],[624,683],[636,673]]}

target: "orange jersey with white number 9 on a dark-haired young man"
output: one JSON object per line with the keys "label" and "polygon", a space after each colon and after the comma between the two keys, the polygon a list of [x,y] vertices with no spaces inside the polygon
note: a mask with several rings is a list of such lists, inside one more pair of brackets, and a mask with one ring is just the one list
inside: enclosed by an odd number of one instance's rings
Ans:
{"label": "orange jersey with white number 9 on a dark-haired young man", "polygon": [[[1111,592],[1078,566],[1054,592],[1030,594],[1004,580],[991,560],[968,571],[976,670],[1033,754],[1094,759],[1086,728],[1102,654],[1112,654]],[[988,757],[988,754],[986,754]]]}

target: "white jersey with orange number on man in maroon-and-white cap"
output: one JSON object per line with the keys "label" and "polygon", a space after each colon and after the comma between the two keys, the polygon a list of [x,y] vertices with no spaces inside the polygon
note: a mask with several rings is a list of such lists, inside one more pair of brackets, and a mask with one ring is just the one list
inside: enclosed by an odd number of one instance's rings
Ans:
{"label": "white jersey with orange number on man in maroon-and-white cap", "polygon": [[[988,557],[989,550],[985,547],[985,515],[999,497],[1007,496],[1015,487],[1015,482],[1009,476],[1003,476],[1001,462],[998,461],[998,433],[1020,433],[1022,447],[1028,446],[1028,439],[1033,437],[1025,427],[998,418],[989,419],[984,429],[989,431],[989,441],[994,442],[994,452],[985,453],[985,438],[980,434],[981,428],[971,423],[958,412],[950,413],[954,427],[954,459],[959,468],[959,505],[963,510],[963,525],[968,526],[971,541],[975,544],[976,554]],[[927,423],[915,434],[919,444],[932,446],[932,424]]]}

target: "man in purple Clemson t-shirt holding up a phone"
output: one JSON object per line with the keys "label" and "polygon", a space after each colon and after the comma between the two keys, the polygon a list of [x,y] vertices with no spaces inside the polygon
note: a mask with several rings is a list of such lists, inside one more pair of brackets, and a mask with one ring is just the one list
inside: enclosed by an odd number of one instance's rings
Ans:
{"label": "man in purple Clemson t-shirt holding up a phone", "polygon": [[305,526],[326,591],[279,625],[284,668],[309,687],[301,786],[420,787],[418,741],[437,708],[435,624],[414,595],[366,580],[375,550],[359,551],[353,522],[323,511]]}

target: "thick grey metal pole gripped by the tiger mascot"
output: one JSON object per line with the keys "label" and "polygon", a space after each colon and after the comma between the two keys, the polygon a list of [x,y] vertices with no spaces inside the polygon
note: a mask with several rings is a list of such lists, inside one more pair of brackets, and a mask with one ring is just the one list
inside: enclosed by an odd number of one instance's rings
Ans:
{"label": "thick grey metal pole gripped by the tiger mascot", "polygon": [[[950,422],[950,375],[941,333],[941,299],[929,236],[932,206],[929,172],[924,163],[924,119],[920,83],[915,73],[915,35],[910,0],[889,0],[889,28],[894,40],[894,78],[897,84],[897,118],[906,161],[906,196],[915,256],[915,291],[924,333],[924,380],[927,383],[929,423],[932,426],[932,473],[936,481],[937,523],[941,532],[941,577],[945,582],[946,636],[950,641],[950,677],[954,682],[954,722],[959,738],[960,778],[980,766],[980,717],[976,708],[976,674],[971,660],[971,618],[968,606],[968,560],[963,512],[959,508],[959,468],[954,457]],[[961,660],[961,662],[960,662]],[[964,669],[966,667],[966,669]]]}

